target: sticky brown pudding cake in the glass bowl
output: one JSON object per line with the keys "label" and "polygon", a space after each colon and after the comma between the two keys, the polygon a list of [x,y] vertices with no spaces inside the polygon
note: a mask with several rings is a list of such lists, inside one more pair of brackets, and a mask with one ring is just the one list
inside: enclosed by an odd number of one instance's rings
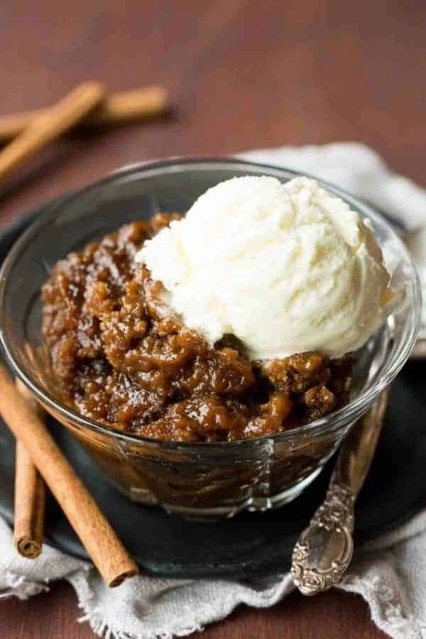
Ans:
{"label": "sticky brown pudding cake in the glass bowl", "polygon": [[190,442],[275,435],[344,405],[350,357],[250,361],[233,336],[209,346],[165,313],[162,285],[134,258],[179,217],[122,226],[53,268],[43,334],[62,400],[122,432]]}

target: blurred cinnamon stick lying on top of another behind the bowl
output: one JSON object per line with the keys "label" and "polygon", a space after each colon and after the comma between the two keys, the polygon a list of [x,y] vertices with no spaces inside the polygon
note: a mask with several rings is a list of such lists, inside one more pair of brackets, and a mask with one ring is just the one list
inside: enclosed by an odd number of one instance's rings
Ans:
{"label": "blurred cinnamon stick lying on top of another behind the bowl", "polygon": [[37,151],[65,133],[102,102],[99,82],[85,82],[37,116],[0,152],[0,180],[7,178]]}

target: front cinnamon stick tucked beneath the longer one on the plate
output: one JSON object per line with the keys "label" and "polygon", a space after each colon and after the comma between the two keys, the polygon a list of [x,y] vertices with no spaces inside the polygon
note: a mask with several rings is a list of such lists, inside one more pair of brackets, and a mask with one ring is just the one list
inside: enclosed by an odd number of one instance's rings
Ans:
{"label": "front cinnamon stick tucked beneath the longer one on the plate", "polygon": [[[44,411],[22,382],[16,388],[30,403],[41,420]],[[21,442],[16,441],[15,461],[15,517],[13,543],[19,554],[26,559],[35,559],[43,547],[45,484],[38,474],[31,457]]]}

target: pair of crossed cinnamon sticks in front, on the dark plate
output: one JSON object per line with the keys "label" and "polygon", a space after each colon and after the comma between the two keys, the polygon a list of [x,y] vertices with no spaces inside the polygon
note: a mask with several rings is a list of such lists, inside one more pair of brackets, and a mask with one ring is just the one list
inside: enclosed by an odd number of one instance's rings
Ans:
{"label": "pair of crossed cinnamon sticks in front, on the dark plate", "polygon": [[[0,414],[16,437],[14,541],[24,557],[35,558],[43,542],[45,484],[108,586],[138,572],[111,525],[99,510],[43,422],[43,411],[0,364]],[[43,479],[42,479],[43,477]]]}

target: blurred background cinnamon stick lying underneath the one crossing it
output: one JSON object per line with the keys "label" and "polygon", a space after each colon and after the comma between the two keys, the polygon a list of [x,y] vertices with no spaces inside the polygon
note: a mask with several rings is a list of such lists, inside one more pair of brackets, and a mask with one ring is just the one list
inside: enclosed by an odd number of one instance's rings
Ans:
{"label": "blurred background cinnamon stick lying underneath the one crossing it", "polygon": [[[168,94],[164,87],[153,84],[143,89],[121,91],[104,98],[92,113],[82,120],[84,126],[114,126],[125,122],[153,117],[164,113],[169,106]],[[15,138],[23,129],[33,123],[46,109],[23,111],[0,116],[0,142]]]}

